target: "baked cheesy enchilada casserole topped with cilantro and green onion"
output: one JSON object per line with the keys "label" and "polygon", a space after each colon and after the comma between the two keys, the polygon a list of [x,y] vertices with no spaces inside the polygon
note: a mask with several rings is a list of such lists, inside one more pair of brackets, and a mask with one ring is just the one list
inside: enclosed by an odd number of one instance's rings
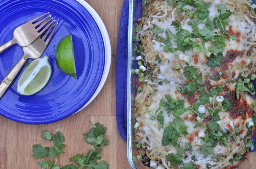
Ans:
{"label": "baked cheesy enchilada casserole topped with cilantro and green onion", "polygon": [[137,158],[157,169],[237,167],[254,149],[255,4],[142,3],[134,39]]}

